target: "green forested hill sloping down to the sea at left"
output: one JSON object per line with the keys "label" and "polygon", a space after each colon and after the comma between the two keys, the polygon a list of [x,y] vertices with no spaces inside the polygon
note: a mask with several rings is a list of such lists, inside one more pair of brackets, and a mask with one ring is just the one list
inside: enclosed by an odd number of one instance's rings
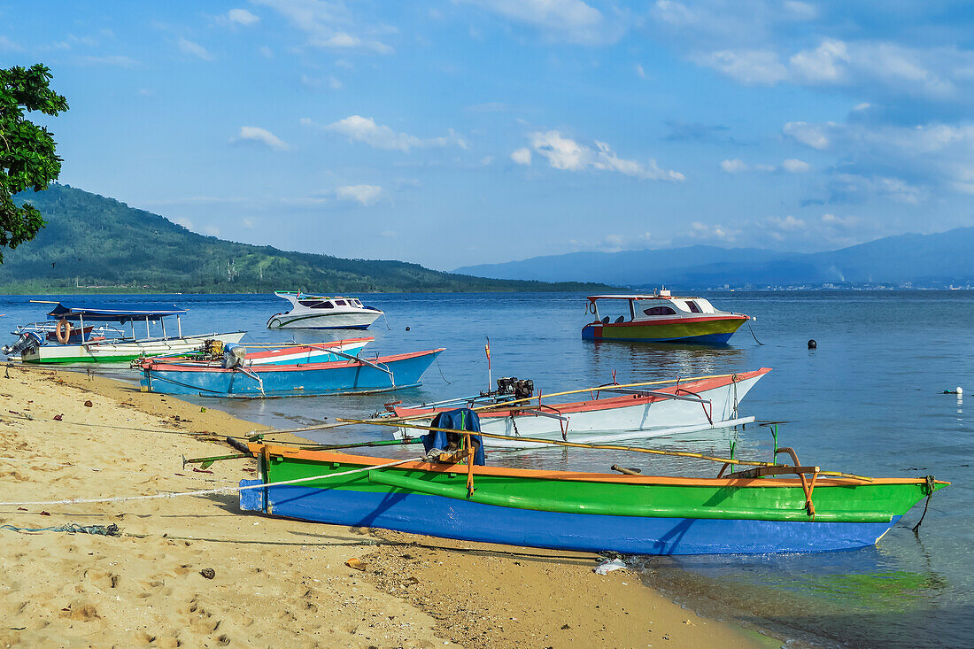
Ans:
{"label": "green forested hill sloping down to the sea at left", "polygon": [[158,214],[67,185],[26,192],[48,224],[4,252],[5,293],[441,292],[587,290],[601,285],[488,280],[402,261],[342,259],[249,246],[190,232]]}

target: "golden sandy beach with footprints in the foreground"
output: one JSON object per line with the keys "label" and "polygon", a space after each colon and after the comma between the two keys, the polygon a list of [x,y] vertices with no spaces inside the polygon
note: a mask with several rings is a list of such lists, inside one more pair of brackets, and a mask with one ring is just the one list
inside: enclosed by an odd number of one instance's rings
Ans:
{"label": "golden sandy beach with footprints in the foreground", "polygon": [[[182,457],[261,427],[125,383],[0,370],[4,646],[758,647],[595,554],[244,515],[252,460]],[[27,529],[117,525],[119,536]],[[18,529],[12,529],[18,528]],[[356,558],[361,570],[346,562]]]}

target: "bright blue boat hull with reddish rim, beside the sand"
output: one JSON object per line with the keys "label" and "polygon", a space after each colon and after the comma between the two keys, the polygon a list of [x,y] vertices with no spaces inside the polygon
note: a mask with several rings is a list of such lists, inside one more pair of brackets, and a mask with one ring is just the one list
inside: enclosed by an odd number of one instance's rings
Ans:
{"label": "bright blue boat hull with reddish rim, beside the sand", "polygon": [[[371,359],[393,376],[354,361],[304,365],[253,365],[246,371],[190,363],[142,363],[141,385],[149,392],[205,397],[293,397],[389,392],[420,385],[443,350]],[[255,378],[256,377],[256,378]],[[259,379],[259,380],[258,380]]]}

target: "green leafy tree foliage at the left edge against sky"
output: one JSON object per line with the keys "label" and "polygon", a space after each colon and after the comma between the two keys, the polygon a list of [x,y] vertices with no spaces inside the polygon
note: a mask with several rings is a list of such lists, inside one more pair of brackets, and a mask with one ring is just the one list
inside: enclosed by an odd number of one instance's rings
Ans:
{"label": "green leafy tree foliage at the left edge against sky", "polygon": [[54,137],[23,116],[67,110],[67,99],[49,88],[51,79],[51,70],[41,63],[0,69],[0,248],[17,248],[45,225],[40,211],[18,206],[12,197],[26,189],[45,190],[60,173]]}

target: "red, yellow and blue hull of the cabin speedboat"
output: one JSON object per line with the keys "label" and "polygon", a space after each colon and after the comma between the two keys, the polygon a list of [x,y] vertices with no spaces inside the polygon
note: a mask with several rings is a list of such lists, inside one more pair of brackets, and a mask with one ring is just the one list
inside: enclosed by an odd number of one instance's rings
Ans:
{"label": "red, yellow and blue hull of the cabin speedboat", "polygon": [[581,328],[582,340],[689,342],[723,345],[746,323],[747,316],[703,316],[658,322],[591,323]]}

